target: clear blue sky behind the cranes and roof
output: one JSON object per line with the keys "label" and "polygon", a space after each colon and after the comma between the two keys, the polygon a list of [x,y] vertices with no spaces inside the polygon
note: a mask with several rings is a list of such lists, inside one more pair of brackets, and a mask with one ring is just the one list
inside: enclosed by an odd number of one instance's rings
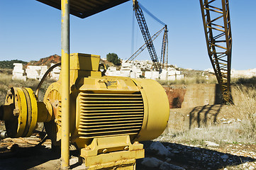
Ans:
{"label": "clear blue sky behind the cranes and roof", "polygon": [[[201,70],[211,68],[199,0],[139,2],[169,28],[169,64]],[[254,0],[230,0],[233,69],[256,68],[255,6]],[[147,14],[145,18],[151,35],[162,28]],[[125,60],[144,43],[136,21],[132,38],[132,1],[85,19],[71,16],[70,22],[70,52],[101,57],[115,52]],[[29,62],[61,53],[60,10],[35,0],[0,0],[0,24],[0,60]],[[162,34],[154,41],[158,56],[161,42]],[[148,50],[137,59],[150,60]]]}

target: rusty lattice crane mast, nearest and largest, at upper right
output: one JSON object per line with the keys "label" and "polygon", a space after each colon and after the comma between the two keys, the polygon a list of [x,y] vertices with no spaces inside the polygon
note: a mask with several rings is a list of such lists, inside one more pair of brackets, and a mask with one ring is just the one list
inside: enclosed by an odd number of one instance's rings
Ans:
{"label": "rusty lattice crane mast, nearest and largest, at upper right", "polygon": [[228,0],[200,0],[208,56],[225,103],[231,102],[230,69],[232,37]]}

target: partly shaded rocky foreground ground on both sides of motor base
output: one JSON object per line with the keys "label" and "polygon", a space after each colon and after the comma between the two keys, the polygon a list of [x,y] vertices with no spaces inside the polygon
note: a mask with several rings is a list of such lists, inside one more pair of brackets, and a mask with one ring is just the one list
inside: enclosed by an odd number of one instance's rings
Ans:
{"label": "partly shaded rocky foreground ground on both sides of motor base", "polygon": [[[1,140],[0,169],[60,169],[60,152],[50,149],[50,140],[46,140],[42,146],[36,146],[38,142],[40,138],[36,136]],[[203,147],[175,141],[162,142],[170,154],[167,157],[161,157],[148,149],[152,142],[143,142],[145,157],[157,157],[163,162],[187,170],[225,169],[227,166],[233,166],[233,169],[255,169],[256,167],[256,145],[227,144],[221,147]],[[78,154],[77,151],[70,152],[70,169],[85,169],[83,165],[77,163]],[[141,162],[142,160],[138,159],[136,169],[152,169]]]}

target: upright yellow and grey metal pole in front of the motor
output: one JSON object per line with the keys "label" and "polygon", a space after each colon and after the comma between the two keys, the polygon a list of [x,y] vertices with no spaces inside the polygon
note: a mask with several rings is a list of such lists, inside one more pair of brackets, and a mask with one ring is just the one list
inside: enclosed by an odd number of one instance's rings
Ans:
{"label": "upright yellow and grey metal pole in front of the motor", "polygon": [[62,137],[61,160],[62,169],[69,168],[69,0],[61,1],[61,45],[62,45]]}

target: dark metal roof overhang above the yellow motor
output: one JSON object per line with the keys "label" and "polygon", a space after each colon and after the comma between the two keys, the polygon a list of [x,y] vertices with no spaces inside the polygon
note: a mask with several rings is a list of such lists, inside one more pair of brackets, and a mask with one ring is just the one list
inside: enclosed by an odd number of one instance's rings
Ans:
{"label": "dark metal roof overhang above the yellow motor", "polygon": [[[36,0],[60,9],[60,0]],[[79,18],[86,18],[128,0],[70,0],[70,13]]]}

